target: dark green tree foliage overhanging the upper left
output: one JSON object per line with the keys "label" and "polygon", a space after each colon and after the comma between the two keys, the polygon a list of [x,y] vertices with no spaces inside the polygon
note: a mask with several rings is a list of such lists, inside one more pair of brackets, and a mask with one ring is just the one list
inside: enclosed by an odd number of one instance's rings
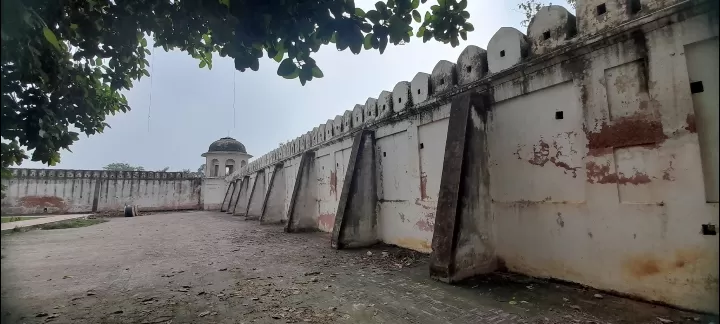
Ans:
{"label": "dark green tree foliage overhanging the upper left", "polygon": [[426,1],[363,9],[354,0],[3,0],[2,168],[27,159],[25,149],[54,165],[80,133],[102,132],[108,114],[128,111],[121,91],[149,76],[150,37],[201,68],[217,53],[256,71],[267,56],[278,75],[304,85],[323,77],[312,54],[325,45],[382,53],[415,36],[457,46],[473,30],[468,0],[434,0],[422,15]]}

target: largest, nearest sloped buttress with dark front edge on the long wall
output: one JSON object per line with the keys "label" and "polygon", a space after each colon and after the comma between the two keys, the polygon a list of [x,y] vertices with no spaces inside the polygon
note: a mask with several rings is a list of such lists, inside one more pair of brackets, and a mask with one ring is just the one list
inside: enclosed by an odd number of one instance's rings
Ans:
{"label": "largest, nearest sloped buttress with dark front edge on the long wall", "polygon": [[430,276],[456,282],[496,269],[487,162],[487,95],[467,93],[451,106]]}

